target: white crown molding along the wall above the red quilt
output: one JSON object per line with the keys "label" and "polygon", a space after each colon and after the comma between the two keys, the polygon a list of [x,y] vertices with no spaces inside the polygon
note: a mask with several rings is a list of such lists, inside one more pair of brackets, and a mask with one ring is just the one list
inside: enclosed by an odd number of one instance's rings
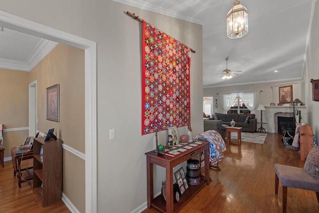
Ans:
{"label": "white crown molding along the wall above the red quilt", "polygon": [[151,4],[147,1],[142,1],[142,0],[113,0],[113,1],[128,4],[128,5],[135,6],[135,7],[141,8],[141,9],[146,9],[146,10],[149,10],[152,12],[157,12],[157,13],[160,13],[162,15],[167,15],[167,16],[170,16],[173,18],[178,18],[178,19],[189,21],[192,23],[197,23],[197,24],[203,25],[205,22],[203,20],[199,20],[199,19],[187,16],[187,15],[183,15],[181,13],[174,12],[172,10],[165,9],[163,7]]}

